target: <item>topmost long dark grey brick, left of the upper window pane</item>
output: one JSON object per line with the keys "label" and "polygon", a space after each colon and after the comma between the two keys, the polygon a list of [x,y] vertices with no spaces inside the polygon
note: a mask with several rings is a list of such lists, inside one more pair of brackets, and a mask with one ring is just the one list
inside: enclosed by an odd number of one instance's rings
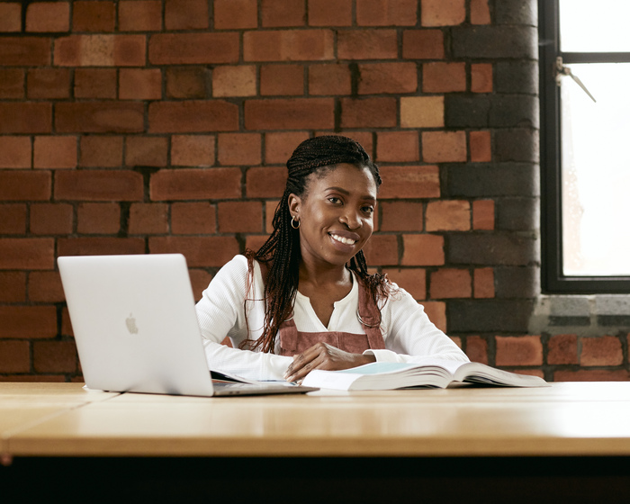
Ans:
{"label": "topmost long dark grey brick, left of the upper window pane", "polygon": [[533,26],[455,26],[453,56],[458,58],[538,58],[538,31]]}

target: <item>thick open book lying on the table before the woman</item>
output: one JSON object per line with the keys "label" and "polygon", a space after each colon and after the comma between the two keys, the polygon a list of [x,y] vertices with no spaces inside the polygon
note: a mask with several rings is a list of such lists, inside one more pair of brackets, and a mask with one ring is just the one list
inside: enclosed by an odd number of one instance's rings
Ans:
{"label": "thick open book lying on the table before the woman", "polygon": [[538,376],[510,373],[480,363],[427,358],[413,364],[372,363],[342,371],[315,370],[302,385],[339,391],[384,391],[408,387],[446,388],[453,382],[506,387],[545,387]]}

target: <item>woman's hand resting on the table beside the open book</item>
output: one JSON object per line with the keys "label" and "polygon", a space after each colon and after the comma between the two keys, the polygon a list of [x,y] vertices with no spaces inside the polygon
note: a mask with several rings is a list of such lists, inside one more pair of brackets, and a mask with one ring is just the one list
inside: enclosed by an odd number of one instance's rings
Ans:
{"label": "woman's hand resting on the table beside the open book", "polygon": [[375,361],[376,358],[371,355],[350,354],[328,343],[317,343],[302,354],[293,356],[293,363],[284,373],[284,379],[287,382],[302,382],[304,376],[313,369],[337,371]]}

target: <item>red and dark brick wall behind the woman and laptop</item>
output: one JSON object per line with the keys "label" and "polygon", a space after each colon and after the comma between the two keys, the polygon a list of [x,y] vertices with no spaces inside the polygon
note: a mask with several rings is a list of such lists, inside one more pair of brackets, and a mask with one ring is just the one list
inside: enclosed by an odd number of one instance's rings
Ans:
{"label": "red and dark brick wall behind the woman and laptop", "polygon": [[0,2],[0,380],[81,379],[56,257],[182,252],[198,297],[331,132],[382,169],[370,265],[473,360],[628,379],[627,320],[540,295],[538,118],[534,0]]}

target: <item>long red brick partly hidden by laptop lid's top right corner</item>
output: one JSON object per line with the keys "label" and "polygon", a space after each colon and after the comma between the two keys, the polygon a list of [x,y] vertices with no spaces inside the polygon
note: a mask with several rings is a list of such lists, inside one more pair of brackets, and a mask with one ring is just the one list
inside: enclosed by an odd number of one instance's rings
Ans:
{"label": "long red brick partly hidden by laptop lid's top right corner", "polygon": [[223,266],[238,254],[233,237],[150,237],[151,254],[184,254],[189,267]]}

